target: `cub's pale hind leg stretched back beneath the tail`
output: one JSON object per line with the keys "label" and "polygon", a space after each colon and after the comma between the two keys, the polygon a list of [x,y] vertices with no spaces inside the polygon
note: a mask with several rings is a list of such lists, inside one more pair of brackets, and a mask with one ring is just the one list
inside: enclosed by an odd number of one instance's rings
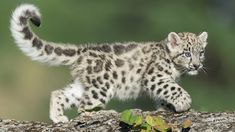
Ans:
{"label": "cub's pale hind leg stretched back beneath the tail", "polygon": [[51,93],[50,119],[57,122],[68,122],[64,110],[78,106],[84,89],[80,83],[73,83],[66,88]]}

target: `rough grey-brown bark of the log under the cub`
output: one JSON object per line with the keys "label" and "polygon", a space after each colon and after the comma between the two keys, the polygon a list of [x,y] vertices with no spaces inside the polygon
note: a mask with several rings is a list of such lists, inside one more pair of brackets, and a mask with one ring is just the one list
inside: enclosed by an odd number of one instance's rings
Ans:
{"label": "rough grey-brown bark of the log under the cub", "polygon": [[[182,123],[192,121],[190,132],[224,132],[235,131],[235,112],[196,112],[184,113],[141,111],[134,109],[134,113],[142,116],[154,115],[162,117],[167,123],[174,126],[176,131],[182,131]],[[77,131],[129,131],[129,128],[120,124],[120,114],[113,110],[101,110],[81,114],[68,123],[43,123],[37,121],[0,120],[0,132],[77,132]]]}

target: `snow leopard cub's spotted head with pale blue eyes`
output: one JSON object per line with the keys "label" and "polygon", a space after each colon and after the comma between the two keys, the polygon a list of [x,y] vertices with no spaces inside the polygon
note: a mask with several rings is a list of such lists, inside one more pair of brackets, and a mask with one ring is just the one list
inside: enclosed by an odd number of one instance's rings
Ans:
{"label": "snow leopard cub's spotted head with pale blue eyes", "polygon": [[207,32],[199,35],[171,32],[167,37],[169,56],[181,73],[196,75],[203,70],[204,53],[207,45]]}

